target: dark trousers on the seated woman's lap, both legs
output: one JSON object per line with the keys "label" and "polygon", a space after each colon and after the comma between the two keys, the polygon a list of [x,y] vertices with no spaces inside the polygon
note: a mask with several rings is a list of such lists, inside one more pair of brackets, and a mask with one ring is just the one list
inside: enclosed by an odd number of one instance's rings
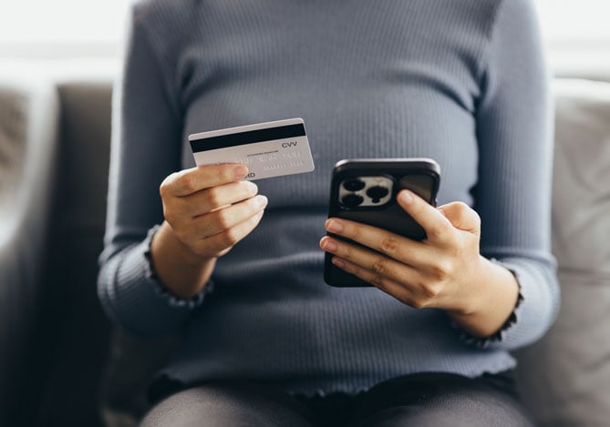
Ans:
{"label": "dark trousers on the seated woman's lap, both legs", "polygon": [[533,426],[510,372],[470,379],[419,373],[357,395],[290,396],[264,384],[214,381],[155,404],[142,427]]}

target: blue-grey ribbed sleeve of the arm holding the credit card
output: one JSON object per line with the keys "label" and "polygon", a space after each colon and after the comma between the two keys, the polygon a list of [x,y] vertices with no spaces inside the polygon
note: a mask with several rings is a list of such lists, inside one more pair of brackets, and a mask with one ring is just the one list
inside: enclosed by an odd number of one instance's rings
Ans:
{"label": "blue-grey ribbed sleeve of the arm holding the credit card", "polygon": [[[159,187],[181,168],[181,115],[163,63],[134,9],[123,72],[114,90],[105,249],[98,297],[112,320],[140,336],[175,332],[202,301],[165,290],[150,263],[163,220]],[[206,286],[206,290],[211,289]]]}

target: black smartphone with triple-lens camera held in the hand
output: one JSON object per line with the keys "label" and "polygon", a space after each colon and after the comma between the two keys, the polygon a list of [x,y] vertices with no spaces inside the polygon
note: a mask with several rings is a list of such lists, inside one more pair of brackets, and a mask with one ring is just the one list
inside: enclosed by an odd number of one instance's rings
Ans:
{"label": "black smartphone with triple-lens camera held in the hand", "polygon": [[[333,168],[328,217],[349,219],[408,239],[426,239],[426,232],[396,201],[398,191],[409,189],[436,207],[439,164],[431,158],[359,158],[341,160]],[[356,242],[328,233],[335,239]],[[359,246],[359,245],[358,245]],[[324,280],[336,287],[372,286],[338,269],[326,252]]]}

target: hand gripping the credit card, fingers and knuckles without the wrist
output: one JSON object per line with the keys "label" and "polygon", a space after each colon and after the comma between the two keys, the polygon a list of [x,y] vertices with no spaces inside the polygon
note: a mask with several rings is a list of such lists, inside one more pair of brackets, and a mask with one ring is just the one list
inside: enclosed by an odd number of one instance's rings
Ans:
{"label": "hand gripping the credit card, fingers and knuckles without the wrist", "polygon": [[258,225],[267,198],[245,181],[241,164],[209,165],[171,174],[160,185],[163,216],[192,253],[218,258]]}

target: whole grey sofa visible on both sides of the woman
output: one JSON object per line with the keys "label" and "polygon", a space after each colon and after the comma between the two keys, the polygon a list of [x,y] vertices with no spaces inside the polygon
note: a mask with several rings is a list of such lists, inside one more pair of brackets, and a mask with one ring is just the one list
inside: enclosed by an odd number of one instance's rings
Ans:
{"label": "whole grey sofa visible on both sides of the woman", "polygon": [[[0,425],[130,426],[175,339],[115,330],[96,294],[114,60],[0,61]],[[544,426],[610,420],[610,75],[557,73],[553,253],[563,304],[515,352]]]}

